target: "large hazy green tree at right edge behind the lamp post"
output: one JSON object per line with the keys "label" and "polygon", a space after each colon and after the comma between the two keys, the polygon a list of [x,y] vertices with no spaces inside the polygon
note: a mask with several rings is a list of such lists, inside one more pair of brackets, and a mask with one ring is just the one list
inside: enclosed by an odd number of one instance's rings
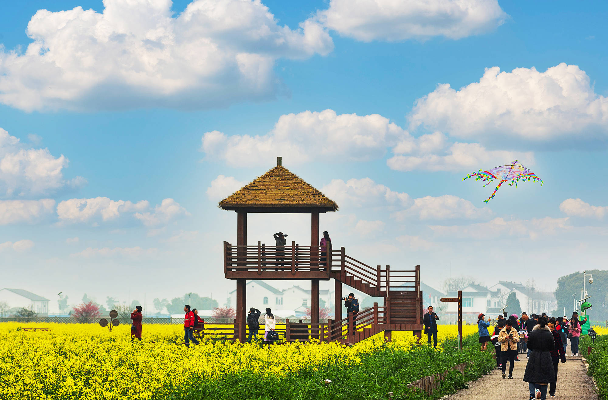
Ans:
{"label": "large hazy green tree at right edge behind the lamp post", "polygon": [[[599,269],[593,269],[587,271],[587,274],[593,275],[593,284],[587,281],[587,293],[591,296],[588,302],[593,305],[593,308],[587,311],[590,319],[594,321],[605,321],[608,320],[608,271],[601,271]],[[589,279],[589,278],[587,278]],[[558,308],[551,314],[561,315],[566,310],[566,315],[570,317],[574,306],[572,302],[572,295],[575,295],[576,308],[581,308],[581,289],[582,289],[582,271],[573,272],[570,275],[564,275],[558,279],[558,288],[555,289],[555,298],[558,300]],[[579,311],[580,314],[580,311]]]}

